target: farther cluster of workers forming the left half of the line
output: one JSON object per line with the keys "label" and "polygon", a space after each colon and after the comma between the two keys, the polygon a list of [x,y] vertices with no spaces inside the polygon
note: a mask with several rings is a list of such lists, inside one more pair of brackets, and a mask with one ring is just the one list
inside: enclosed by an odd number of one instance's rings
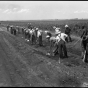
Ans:
{"label": "farther cluster of workers forming the left half of the line", "polygon": [[37,27],[31,27],[28,26],[28,28],[25,27],[19,27],[19,26],[7,26],[7,31],[10,31],[11,34],[17,35],[22,33],[25,37],[25,41],[30,41],[31,44],[39,44],[42,46],[42,30],[40,30]]}

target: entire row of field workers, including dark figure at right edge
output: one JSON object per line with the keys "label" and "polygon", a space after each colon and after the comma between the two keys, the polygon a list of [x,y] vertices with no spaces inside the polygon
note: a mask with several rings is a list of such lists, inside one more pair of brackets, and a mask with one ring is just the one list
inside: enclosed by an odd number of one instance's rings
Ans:
{"label": "entire row of field workers, including dark figure at right edge", "polygon": [[[72,42],[70,33],[71,29],[68,25],[65,25],[65,33],[61,32],[61,28],[53,27],[55,30],[55,36],[52,35],[50,31],[42,31],[37,27],[32,27],[31,23],[28,23],[27,28],[21,27],[21,33],[25,36],[26,41],[30,41],[31,44],[39,44],[42,43],[42,35],[43,32],[46,34],[46,39],[50,43],[50,53],[48,55],[55,56],[59,54],[60,58],[68,58],[66,43]],[[82,59],[84,62],[87,62],[88,57],[88,30],[83,26],[83,32],[81,35],[81,45],[82,45]],[[10,31],[11,34],[16,35],[20,33],[20,28],[18,26],[7,26],[7,31]],[[53,48],[54,47],[54,48]]]}

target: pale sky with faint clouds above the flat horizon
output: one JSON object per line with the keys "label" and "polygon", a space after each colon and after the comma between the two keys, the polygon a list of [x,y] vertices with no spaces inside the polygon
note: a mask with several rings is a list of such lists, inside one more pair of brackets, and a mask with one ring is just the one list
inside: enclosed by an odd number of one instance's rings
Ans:
{"label": "pale sky with faint clouds above the flat horizon", "polygon": [[88,19],[88,1],[0,1],[0,20]]}

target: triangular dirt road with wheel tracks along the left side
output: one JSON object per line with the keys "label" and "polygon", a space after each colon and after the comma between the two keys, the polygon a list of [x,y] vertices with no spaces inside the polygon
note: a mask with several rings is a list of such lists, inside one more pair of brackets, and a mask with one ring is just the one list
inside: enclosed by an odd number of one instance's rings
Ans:
{"label": "triangular dirt road with wheel tracks along the left side", "polygon": [[36,76],[7,38],[0,28],[0,86],[50,86]]}

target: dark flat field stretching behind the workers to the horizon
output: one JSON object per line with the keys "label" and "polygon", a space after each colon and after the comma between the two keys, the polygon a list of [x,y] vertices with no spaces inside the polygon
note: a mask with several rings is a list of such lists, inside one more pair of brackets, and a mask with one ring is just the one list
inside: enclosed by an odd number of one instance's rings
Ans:
{"label": "dark flat field stretching behind the workers to the horizon", "polygon": [[82,25],[85,25],[88,28],[88,20],[30,20],[30,21],[1,21],[2,24],[9,24],[15,26],[27,27],[27,23],[32,23],[33,27],[38,27],[42,30],[54,31],[53,26],[60,27],[62,32],[64,32],[64,26],[66,24],[72,30],[73,34],[80,35],[79,30],[82,28]]}

